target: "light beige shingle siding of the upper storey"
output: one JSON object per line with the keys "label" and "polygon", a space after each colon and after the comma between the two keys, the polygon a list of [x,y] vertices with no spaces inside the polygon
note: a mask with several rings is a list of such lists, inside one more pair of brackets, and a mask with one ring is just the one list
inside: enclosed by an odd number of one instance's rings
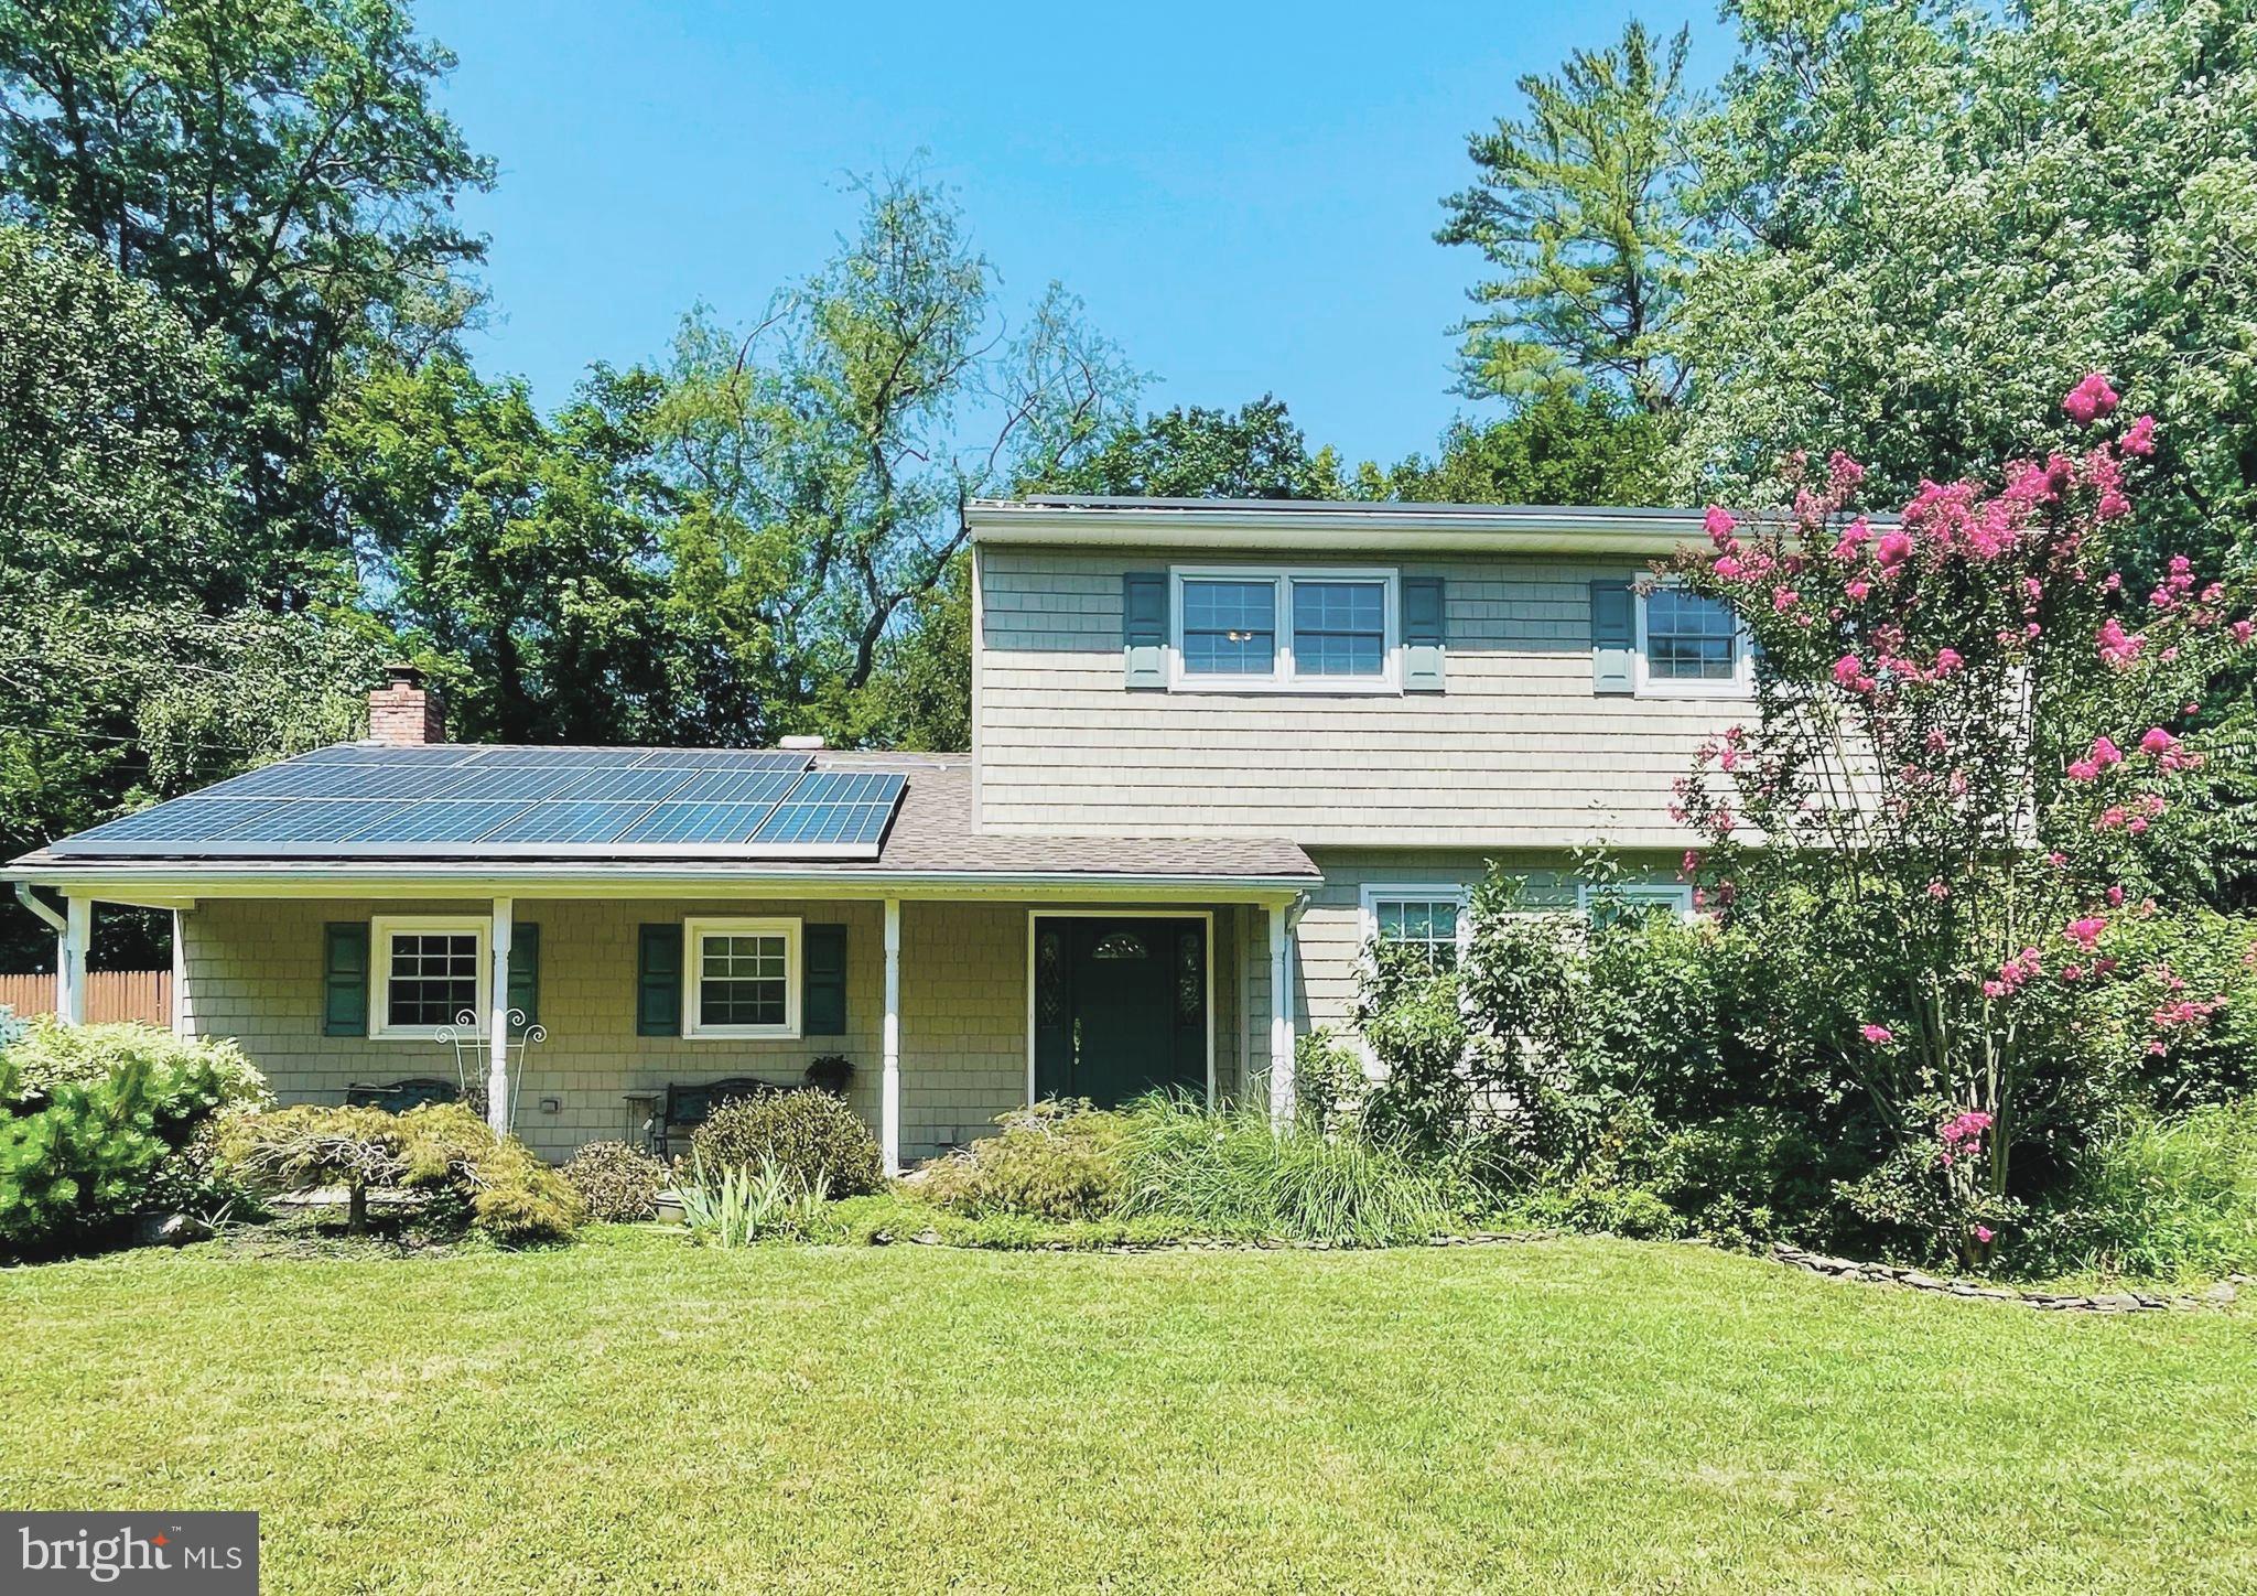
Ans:
{"label": "light beige shingle siding of the upper storey", "polygon": [[[1729,700],[1591,693],[1589,582],[1641,567],[1404,558],[1447,580],[1440,695],[1128,693],[1122,573],[1169,553],[986,546],[980,806],[1020,833],[1284,835],[1302,844],[1675,847],[1670,786]],[[1350,564],[1262,555],[1248,564]]]}

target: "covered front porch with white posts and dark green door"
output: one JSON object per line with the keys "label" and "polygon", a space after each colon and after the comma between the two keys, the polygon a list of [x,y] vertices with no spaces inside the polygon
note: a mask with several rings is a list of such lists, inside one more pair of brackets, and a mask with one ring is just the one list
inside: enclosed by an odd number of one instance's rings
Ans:
{"label": "covered front porch with white posts and dark green door", "polygon": [[[636,1140],[670,1086],[792,1086],[824,1056],[853,1066],[846,1097],[894,1172],[1036,1097],[1162,1086],[1291,1104],[1298,894],[1275,887],[442,887],[330,892],[307,871],[287,889],[111,901],[174,907],[176,1027],[241,1043],[282,1102],[456,1079],[438,1027],[469,1007],[490,1117],[551,1160]],[[74,892],[59,914],[65,1005],[93,903]],[[542,1041],[490,1047],[510,1009]]]}

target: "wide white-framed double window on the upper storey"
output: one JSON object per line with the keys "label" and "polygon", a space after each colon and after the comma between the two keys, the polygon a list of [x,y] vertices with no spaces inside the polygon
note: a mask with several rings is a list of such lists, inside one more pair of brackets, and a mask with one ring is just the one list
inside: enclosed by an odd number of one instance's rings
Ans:
{"label": "wide white-framed double window on the upper storey", "polygon": [[1187,691],[1393,691],[1395,571],[1178,569],[1174,684]]}

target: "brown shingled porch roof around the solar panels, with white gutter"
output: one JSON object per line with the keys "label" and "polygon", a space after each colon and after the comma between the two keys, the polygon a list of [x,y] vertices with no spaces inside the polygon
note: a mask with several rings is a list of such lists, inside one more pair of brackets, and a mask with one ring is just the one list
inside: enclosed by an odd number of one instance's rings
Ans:
{"label": "brown shingled porch roof around the solar panels, with white gutter", "polygon": [[[476,842],[460,849],[354,847],[323,853],[318,844],[293,844],[271,856],[241,844],[217,849],[194,842],[163,851],[140,847],[104,853],[86,838],[36,849],[0,869],[0,878],[65,892],[99,887],[144,894],[230,896],[348,889],[361,885],[411,885],[447,878],[454,885],[600,885],[609,892],[643,887],[677,892],[722,885],[792,885],[876,892],[901,887],[1140,887],[1140,889],[1230,889],[1237,894],[1300,892],[1323,880],[1318,867],[1282,838],[1097,838],[986,833],[973,819],[973,772],[964,754],[822,752],[817,770],[885,772],[905,781],[901,808],[873,858],[743,858],[670,853],[668,858],[589,856],[587,849],[557,856],[524,847],[488,851]],[[178,799],[176,799],[178,801]],[[108,896],[108,894],[102,894]]]}

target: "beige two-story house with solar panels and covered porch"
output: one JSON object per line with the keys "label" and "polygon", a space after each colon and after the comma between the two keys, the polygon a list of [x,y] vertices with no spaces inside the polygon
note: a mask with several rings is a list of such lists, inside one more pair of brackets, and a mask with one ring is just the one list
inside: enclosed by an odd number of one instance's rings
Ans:
{"label": "beige two-story house with solar panels and covered porch", "polygon": [[1365,944],[1454,941],[1492,860],[1573,903],[1602,840],[1686,898],[1670,788],[1749,698],[1731,616],[1641,580],[1697,512],[968,519],[968,756],[454,745],[399,670],[368,740],[11,865],[65,1018],[95,905],[147,905],[176,1027],[284,1102],[454,1079],[562,1158],[835,1054],[901,1167],[1040,1097],[1284,1111]]}

